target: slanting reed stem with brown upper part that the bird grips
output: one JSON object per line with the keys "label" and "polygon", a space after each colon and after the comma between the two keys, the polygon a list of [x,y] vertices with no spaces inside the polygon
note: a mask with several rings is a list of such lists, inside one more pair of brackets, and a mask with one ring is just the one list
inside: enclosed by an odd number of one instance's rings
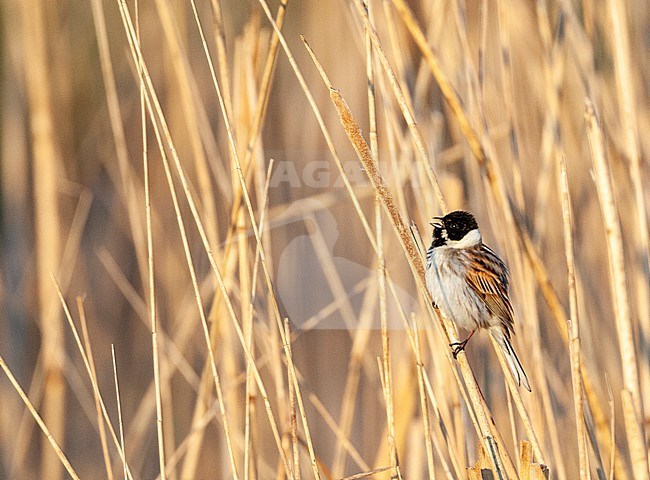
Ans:
{"label": "slanting reed stem with brown upper part that the bird grips", "polygon": [[[357,152],[357,156],[364,167],[364,171],[368,175],[368,178],[370,179],[370,182],[375,189],[377,197],[379,197],[381,200],[382,206],[384,207],[388,218],[391,220],[393,229],[395,230],[400,244],[406,253],[409,266],[411,267],[411,270],[415,275],[416,282],[420,287],[420,292],[426,299],[426,303],[428,305],[431,305],[431,298],[428,293],[426,281],[424,278],[424,264],[422,263],[422,259],[418,254],[417,246],[413,242],[410,230],[404,223],[404,220],[399,213],[390,190],[386,186],[384,179],[379,172],[379,169],[373,161],[370,148],[363,138],[361,129],[356,123],[356,120],[354,119],[347,102],[341,96],[340,92],[332,86],[331,82],[327,78],[327,75],[325,74],[325,71],[316,59],[313,50],[311,50],[304,37],[303,43],[307,47],[309,54],[314,61],[314,64],[318,68],[323,82],[329,89],[330,99],[336,107],[339,119],[343,125],[343,129],[345,130],[348,139]],[[436,310],[436,316],[446,336],[447,342],[452,343],[455,341],[456,334],[451,321],[442,316],[438,310]],[[446,353],[449,361],[451,362],[451,353],[449,351]],[[499,448],[494,438],[490,434],[490,421],[488,418],[491,418],[491,416],[488,414],[487,406],[485,406],[485,404],[482,402],[480,390],[465,355],[460,355],[458,357],[458,364],[460,365],[465,386],[467,387],[469,393],[471,405],[476,412],[481,441],[484,442],[485,449],[487,452],[489,452],[490,459],[493,462],[494,471],[500,475],[499,478],[505,478],[501,453],[499,452]],[[459,385],[459,387],[462,388],[462,385]]]}

